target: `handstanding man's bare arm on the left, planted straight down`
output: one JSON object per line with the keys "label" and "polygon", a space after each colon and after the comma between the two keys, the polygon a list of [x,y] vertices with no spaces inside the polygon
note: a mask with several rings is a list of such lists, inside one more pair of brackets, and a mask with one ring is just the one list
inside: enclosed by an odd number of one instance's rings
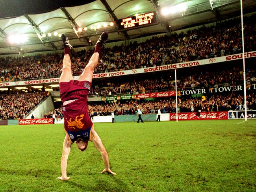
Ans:
{"label": "handstanding man's bare arm on the left, planted straight down", "polygon": [[63,151],[61,156],[61,177],[57,177],[57,179],[68,180],[70,177],[67,177],[67,161],[71,149],[72,142],[69,137],[66,135],[63,142]]}

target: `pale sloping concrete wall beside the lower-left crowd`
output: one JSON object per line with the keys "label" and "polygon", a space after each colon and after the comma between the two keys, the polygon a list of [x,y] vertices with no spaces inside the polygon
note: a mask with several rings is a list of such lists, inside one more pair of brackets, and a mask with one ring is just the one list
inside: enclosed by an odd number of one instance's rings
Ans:
{"label": "pale sloping concrete wall beside the lower-left crowd", "polygon": [[39,105],[26,119],[30,119],[32,114],[35,118],[43,118],[45,113],[54,110],[51,96],[49,96],[41,105]]}

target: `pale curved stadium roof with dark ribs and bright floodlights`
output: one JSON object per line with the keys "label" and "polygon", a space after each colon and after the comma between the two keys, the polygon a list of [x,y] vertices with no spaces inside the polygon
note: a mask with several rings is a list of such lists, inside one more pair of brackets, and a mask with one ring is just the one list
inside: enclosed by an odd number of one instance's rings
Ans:
{"label": "pale curved stadium roof with dark ribs and bright floodlights", "polygon": [[[240,15],[240,0],[90,0],[89,2],[80,6],[60,7],[45,13],[1,18],[0,54],[19,53],[20,49],[26,53],[59,50],[62,48],[62,42],[54,32],[66,33],[74,46],[87,46],[94,44],[102,31],[109,32],[109,42],[121,41]],[[185,8],[174,7],[181,4]],[[244,13],[255,11],[255,7],[255,0],[243,0]],[[173,13],[164,15],[163,8]],[[127,30],[122,29],[118,24],[119,19],[150,12],[155,13],[156,22],[143,25],[142,28]],[[113,26],[110,26],[111,22],[114,23]],[[82,28],[81,32],[78,31],[79,28]],[[50,37],[48,33],[51,33]],[[16,38],[27,37],[28,41],[19,44],[9,42],[9,38],[11,36],[15,38],[15,35],[24,35]]]}

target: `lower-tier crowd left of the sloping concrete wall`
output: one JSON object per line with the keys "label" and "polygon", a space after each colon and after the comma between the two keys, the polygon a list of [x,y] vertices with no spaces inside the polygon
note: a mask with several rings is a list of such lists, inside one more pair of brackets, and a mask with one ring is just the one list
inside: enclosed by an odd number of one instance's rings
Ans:
{"label": "lower-tier crowd left of the sloping concrete wall", "polygon": [[46,96],[46,92],[1,94],[0,119],[23,119]]}

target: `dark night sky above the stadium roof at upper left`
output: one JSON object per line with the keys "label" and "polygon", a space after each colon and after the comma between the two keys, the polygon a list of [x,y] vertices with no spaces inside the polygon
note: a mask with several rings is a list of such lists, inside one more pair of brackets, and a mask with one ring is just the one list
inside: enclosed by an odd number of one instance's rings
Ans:
{"label": "dark night sky above the stadium roof at upper left", "polygon": [[53,11],[60,7],[79,6],[95,0],[0,0],[0,18]]}

